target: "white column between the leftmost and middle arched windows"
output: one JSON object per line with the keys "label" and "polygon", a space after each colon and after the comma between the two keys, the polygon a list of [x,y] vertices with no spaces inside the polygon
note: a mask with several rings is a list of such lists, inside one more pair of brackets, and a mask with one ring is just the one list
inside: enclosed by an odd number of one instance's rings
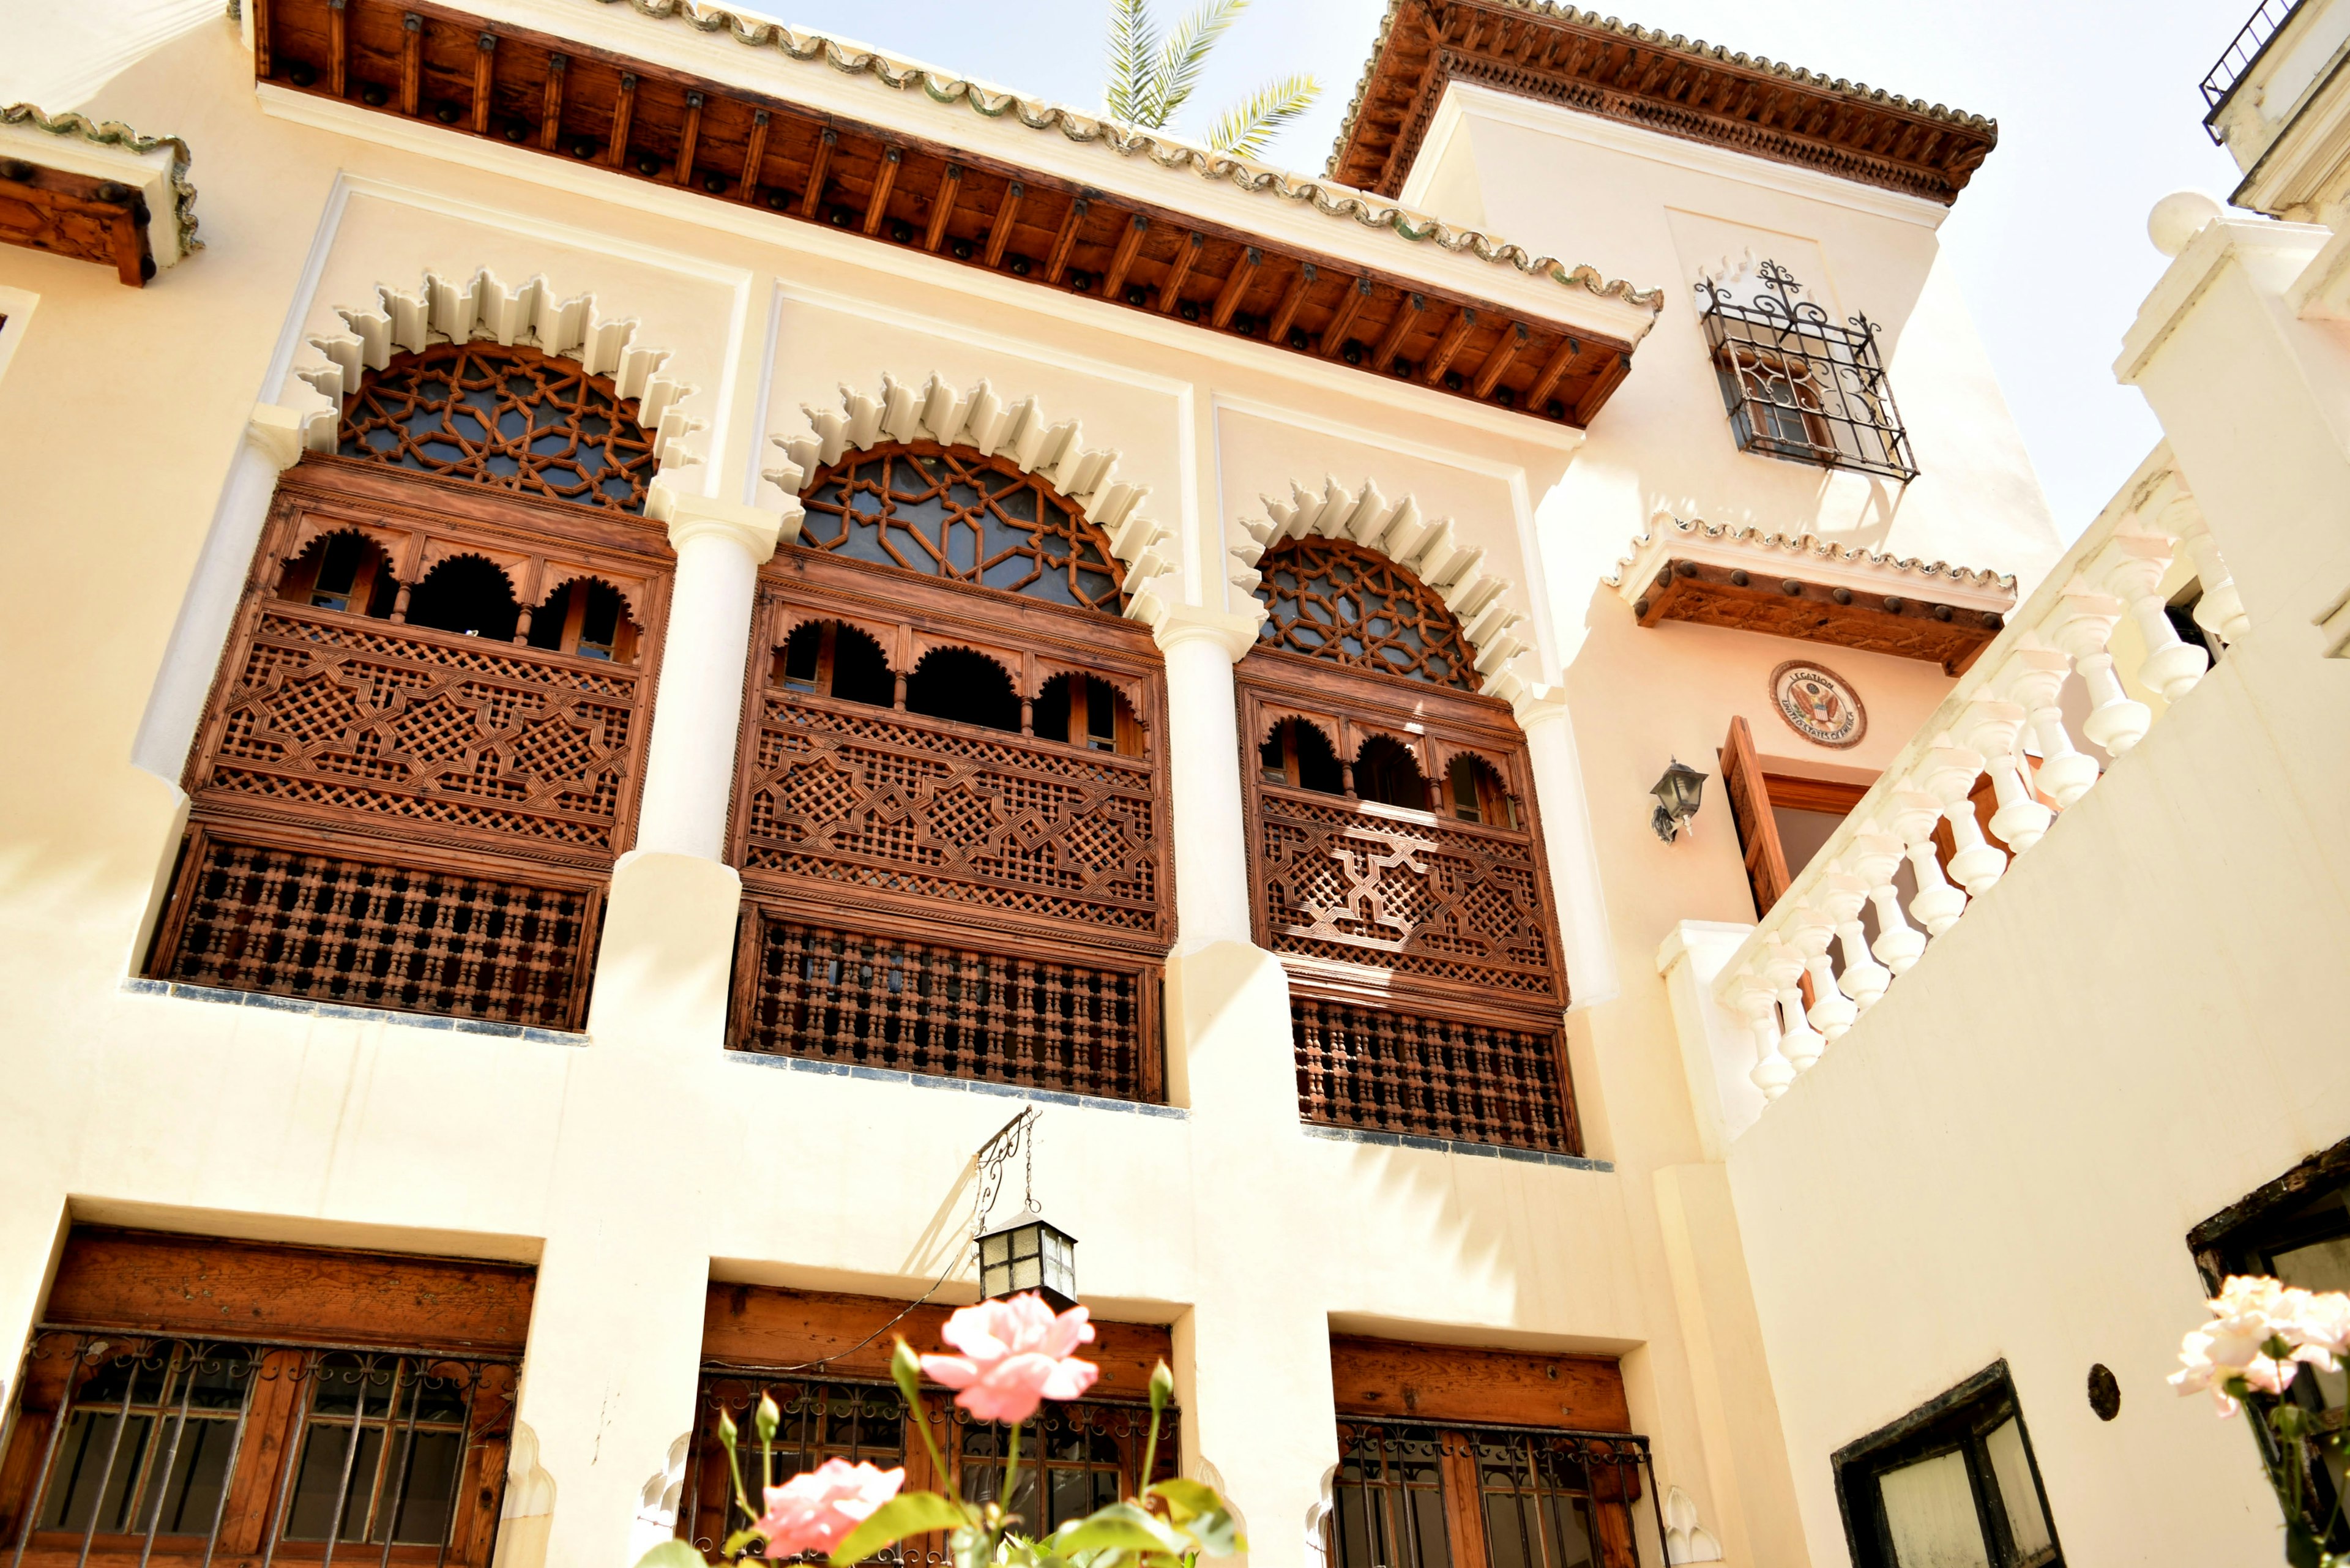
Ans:
{"label": "white column between the leftmost and middle arched windows", "polygon": [[653,487],[651,515],[670,524],[677,578],[660,644],[653,736],[634,853],[717,860],[726,839],[743,668],[759,567],[778,541],[799,538],[799,508],[761,512],[733,501]]}

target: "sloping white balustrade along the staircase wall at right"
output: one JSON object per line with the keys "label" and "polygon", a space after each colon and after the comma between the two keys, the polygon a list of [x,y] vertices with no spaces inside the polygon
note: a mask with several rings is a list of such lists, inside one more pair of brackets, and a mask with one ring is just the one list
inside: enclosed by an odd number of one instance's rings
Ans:
{"label": "sloping white balustrade along the staircase wall at right", "polygon": [[[2178,637],[2164,604],[2174,562],[2193,562],[2202,583],[2200,628],[2225,644],[2249,635],[2228,562],[2178,477],[2160,475],[2134,508],[2108,512],[2075,541],[1720,971],[1716,999],[1753,1032],[1751,1077],[1765,1100],[1852,1032],[1922,961],[1929,940],[2012,875],[2014,858],[2061,832],[2063,811],[2096,785],[2099,757],[2075,745],[2066,724],[2073,675],[2089,696],[2080,722],[2089,745],[2122,757],[2146,738],[2155,712],[2129,696],[2115,668],[2124,621],[2138,644],[2127,677],[2160,693],[2164,710],[2204,677],[2209,654]],[[1990,837],[1974,804],[1986,776],[1998,799]],[[1934,842],[1941,825],[1948,863]],[[1904,858],[1918,879],[1906,914],[1894,886]],[[1875,943],[1864,907],[1875,910]]]}

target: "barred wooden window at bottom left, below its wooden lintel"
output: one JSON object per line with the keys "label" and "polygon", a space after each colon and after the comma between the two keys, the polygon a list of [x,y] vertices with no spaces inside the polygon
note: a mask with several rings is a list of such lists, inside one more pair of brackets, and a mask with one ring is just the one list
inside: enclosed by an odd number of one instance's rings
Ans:
{"label": "barred wooden window at bottom left, below its wooden lintel", "polygon": [[0,1439],[12,1568],[486,1568],[515,1363],[42,1328]]}

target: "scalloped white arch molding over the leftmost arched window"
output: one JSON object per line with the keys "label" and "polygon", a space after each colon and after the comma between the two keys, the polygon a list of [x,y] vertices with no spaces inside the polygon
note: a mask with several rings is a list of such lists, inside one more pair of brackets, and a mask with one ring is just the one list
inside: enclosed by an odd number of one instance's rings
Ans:
{"label": "scalloped white arch molding over the leftmost arched window", "polygon": [[425,273],[416,294],[378,282],[371,308],[336,306],[334,313],[343,317],[343,331],[306,339],[324,364],[294,369],[294,376],[327,400],[324,409],[303,409],[303,444],[310,451],[334,451],[343,397],[362,371],[383,369],[395,353],[418,353],[432,343],[496,339],[505,348],[519,343],[578,360],[590,376],[611,376],[620,397],[637,400],[637,423],[653,433],[656,477],[703,461],[684,442],[705,425],[677,407],[696,388],[665,374],[670,350],[637,343],[637,317],[606,320],[595,294],[559,296],[545,273],[533,273],[512,289],[489,268],[465,282]]}

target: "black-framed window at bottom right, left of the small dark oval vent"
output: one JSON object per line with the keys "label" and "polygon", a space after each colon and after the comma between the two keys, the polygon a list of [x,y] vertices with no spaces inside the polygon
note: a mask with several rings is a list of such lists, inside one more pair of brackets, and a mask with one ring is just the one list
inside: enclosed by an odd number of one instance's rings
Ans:
{"label": "black-framed window at bottom right, left of the small dark oval vent", "polygon": [[1833,1462],[1854,1568],[2063,1568],[2005,1361]]}

